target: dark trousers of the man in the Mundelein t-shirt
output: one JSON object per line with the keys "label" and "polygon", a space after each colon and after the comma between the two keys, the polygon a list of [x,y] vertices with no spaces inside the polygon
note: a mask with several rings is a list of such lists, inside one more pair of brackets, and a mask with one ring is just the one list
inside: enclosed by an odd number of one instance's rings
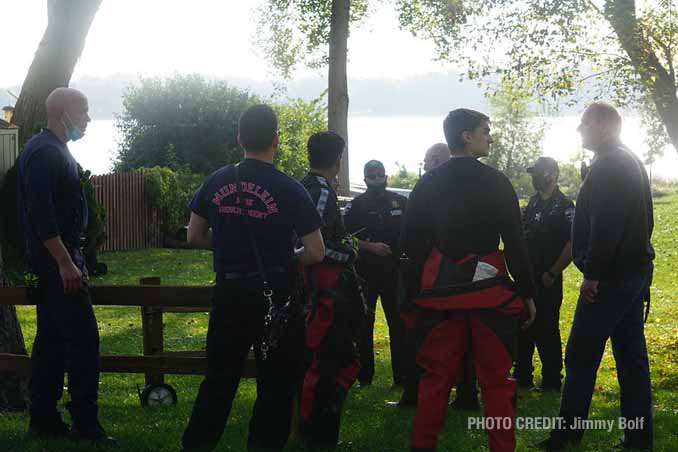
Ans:
{"label": "dark trousers of the man in the Mundelein t-shirt", "polygon": [[[271,283],[275,301],[284,301],[289,287]],[[264,360],[259,344],[266,310],[260,279],[217,283],[207,332],[207,373],[183,435],[184,450],[216,447],[252,345],[257,362],[257,399],[249,425],[248,448],[284,448],[297,381],[303,372],[303,318],[299,315],[295,319],[296,324],[289,327],[279,347]]]}

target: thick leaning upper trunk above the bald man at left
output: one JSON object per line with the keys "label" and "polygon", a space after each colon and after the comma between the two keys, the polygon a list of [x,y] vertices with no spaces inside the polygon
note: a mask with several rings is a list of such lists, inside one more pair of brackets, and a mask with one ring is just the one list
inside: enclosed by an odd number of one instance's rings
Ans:
{"label": "thick leaning upper trunk above the bald man at left", "polygon": [[47,29],[21,87],[12,123],[19,126],[19,147],[46,122],[45,99],[68,86],[94,16],[102,0],[48,0]]}

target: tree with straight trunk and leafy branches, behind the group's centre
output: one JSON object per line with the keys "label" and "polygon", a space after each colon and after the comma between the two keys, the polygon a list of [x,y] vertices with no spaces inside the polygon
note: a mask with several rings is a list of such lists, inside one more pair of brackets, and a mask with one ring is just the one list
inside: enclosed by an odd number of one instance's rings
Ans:
{"label": "tree with straight trunk and leafy branches, behind the group's centre", "polygon": [[[366,17],[367,0],[268,0],[259,11],[258,44],[289,78],[298,63],[328,68],[328,127],[348,148],[346,61],[352,23]],[[349,193],[348,149],[341,161],[340,192]]]}

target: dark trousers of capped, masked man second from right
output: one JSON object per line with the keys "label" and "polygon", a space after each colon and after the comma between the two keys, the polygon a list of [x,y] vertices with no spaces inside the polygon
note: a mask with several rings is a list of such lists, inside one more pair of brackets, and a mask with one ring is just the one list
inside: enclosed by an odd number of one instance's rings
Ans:
{"label": "dark trousers of capped, masked man second from right", "polygon": [[534,323],[518,336],[518,359],[514,377],[521,386],[532,386],[532,357],[535,346],[542,364],[542,387],[560,389],[563,370],[563,347],[560,338],[560,306],[563,301],[563,279],[556,279],[553,286],[545,288],[538,284],[535,305],[537,316]]}

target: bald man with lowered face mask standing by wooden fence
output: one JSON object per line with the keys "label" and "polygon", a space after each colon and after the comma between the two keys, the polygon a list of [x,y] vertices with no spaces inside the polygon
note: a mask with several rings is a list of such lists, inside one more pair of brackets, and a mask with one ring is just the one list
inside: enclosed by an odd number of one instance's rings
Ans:
{"label": "bald man with lowered face mask standing by wooden fence", "polygon": [[99,329],[87,288],[81,245],[87,202],[78,163],[66,143],[83,137],[90,121],[80,91],[57,88],[46,101],[47,128],[33,136],[18,161],[17,197],[30,269],[38,331],[32,353],[30,437],[63,437],[57,411],[64,371],[74,439],[112,445],[98,422]]}

